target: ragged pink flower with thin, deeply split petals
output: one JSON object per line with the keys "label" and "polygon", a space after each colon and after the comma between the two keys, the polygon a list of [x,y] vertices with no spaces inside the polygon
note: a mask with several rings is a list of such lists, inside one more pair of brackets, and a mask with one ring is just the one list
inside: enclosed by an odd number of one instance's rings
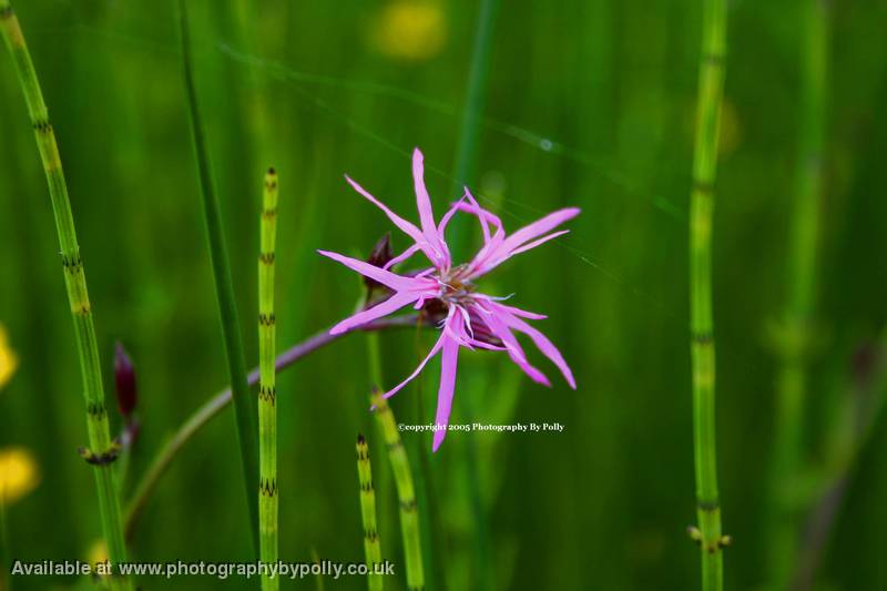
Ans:
{"label": "ragged pink flower with thin, deeply split petals", "polygon": [[[388,299],[338,323],[330,329],[334,335],[387,316],[406,306],[412,306],[415,309],[422,307],[442,309],[440,336],[428,356],[407,379],[383,395],[388,398],[397,394],[419,375],[432,357],[441,354],[440,387],[437,395],[435,422],[443,428],[435,431],[434,451],[437,451],[447,434],[446,426],[449,424],[452,395],[456,388],[456,366],[460,347],[502,350],[531,379],[551,386],[544,374],[527,360],[527,356],[514,336],[514,332],[523,333],[560,369],[570,387],[575,389],[573,374],[567,361],[563,360],[561,353],[548,337],[527,323],[527,319],[541,320],[546,316],[508,306],[502,303],[507,298],[481,294],[476,291],[475,281],[516,254],[534,248],[569,232],[567,230],[551,231],[579,215],[579,210],[575,207],[558,210],[513,234],[506,235],[499,217],[482,208],[466,188],[465,196],[449,208],[439,224],[436,224],[431,200],[425,187],[422,153],[418,149],[412,152],[412,177],[416,186],[416,204],[419,208],[419,226],[404,220],[364,187],[348,176],[345,177],[355,191],[385,212],[397,227],[412,238],[412,245],[406,251],[391,258],[384,267],[377,267],[337,253],[318,252],[394,292]],[[478,218],[483,233],[483,246],[469,263],[453,266],[443,235],[447,224],[457,212],[465,212]],[[419,252],[431,263],[430,267],[414,276],[398,275],[388,271]]]}

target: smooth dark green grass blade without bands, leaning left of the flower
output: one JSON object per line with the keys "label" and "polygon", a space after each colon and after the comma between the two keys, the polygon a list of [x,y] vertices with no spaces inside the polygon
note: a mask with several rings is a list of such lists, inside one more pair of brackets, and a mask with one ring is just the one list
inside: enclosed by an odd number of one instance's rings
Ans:
{"label": "smooth dark green grass blade without bands, leaning left of the flower", "polygon": [[241,463],[243,467],[243,481],[246,490],[247,507],[249,511],[253,548],[258,549],[258,509],[252,502],[254,486],[258,481],[258,454],[256,452],[256,418],[255,407],[249,396],[249,386],[246,377],[246,361],[241,342],[241,328],[237,320],[237,307],[234,303],[234,286],[231,281],[231,264],[228,263],[225,235],[222,231],[222,218],[218,197],[215,193],[213,174],[210,167],[210,154],[206,150],[206,137],[201,121],[200,105],[194,85],[194,74],[191,64],[191,41],[188,38],[187,11],[185,1],[179,0],[180,29],[182,35],[182,65],[185,90],[188,101],[191,131],[194,136],[194,154],[200,172],[201,197],[203,200],[203,214],[206,224],[206,236],[210,245],[210,258],[213,264],[213,279],[215,282],[218,315],[222,324],[222,336],[225,342],[225,355],[231,377],[231,391],[234,399],[234,415],[237,420],[237,442],[241,449]]}

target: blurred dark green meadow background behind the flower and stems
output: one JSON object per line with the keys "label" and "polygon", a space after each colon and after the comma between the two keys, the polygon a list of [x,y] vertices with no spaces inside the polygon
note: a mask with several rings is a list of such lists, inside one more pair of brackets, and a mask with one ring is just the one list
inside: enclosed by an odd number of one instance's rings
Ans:
{"label": "blurred dark green meadow background behind the flower and stems", "polygon": [[[695,589],[687,334],[687,203],[701,2],[501,2],[471,186],[514,230],[567,205],[572,233],[501,267],[489,293],[547,313],[538,323],[571,364],[567,388],[519,375],[503,355],[463,353],[455,422],[553,422],[562,434],[405,435],[420,495],[428,589]],[[438,213],[460,194],[455,169],[479,3],[194,0],[198,92],[225,214],[247,361],[257,360],[256,253],[264,169],[281,175],[278,345],[347,315],[354,274],[315,248],[366,255],[389,230],[344,182],[348,173],[416,218],[409,152],[425,152]],[[718,470],[728,589],[762,589],[774,499],[778,358],[768,326],[784,307],[804,136],[803,2],[730,3],[730,54],[714,226]],[[196,169],[181,78],[175,6],[19,1],[69,182],[101,353],[113,397],[113,342],[136,364],[142,435],[125,493],[181,422],[226,384]],[[815,343],[801,427],[803,527],[835,449],[858,429],[842,417],[883,367],[869,363],[887,320],[887,3],[829,2],[824,191]],[[264,113],[264,120],[263,115]],[[11,60],[0,59],[0,323],[20,365],[0,391],[0,448],[35,456],[40,482],[10,505],[24,560],[85,559],[100,537],[80,376],[52,214]],[[462,255],[477,245],[462,224]],[[406,246],[395,234],[395,246]],[[430,345],[430,335],[419,344]],[[385,385],[417,360],[411,330],[381,335]],[[366,339],[349,336],[279,376],[281,556],[363,560],[354,440],[368,434],[383,553],[404,589],[396,499],[366,391]],[[392,399],[405,422],[432,420],[434,363]],[[874,377],[873,377],[874,376]],[[881,388],[883,389],[883,388]],[[859,395],[861,393],[861,395]],[[460,401],[461,400],[461,401]],[[876,418],[863,406],[865,418]],[[119,425],[113,417],[114,425]],[[858,446],[816,589],[887,589],[887,429]],[[424,459],[422,459],[424,458]],[[247,560],[247,518],[227,409],[177,457],[151,499],[131,559]],[[424,468],[422,468],[424,467]],[[825,477],[820,476],[825,472]],[[808,483],[812,482],[812,483]],[[480,517],[480,519],[479,519]],[[784,565],[785,565],[784,564]],[[13,580],[43,589],[75,581]],[[363,589],[350,578],[329,589]],[[246,587],[212,578],[144,589]],[[257,585],[252,581],[249,585]],[[297,587],[313,587],[302,581]]]}

